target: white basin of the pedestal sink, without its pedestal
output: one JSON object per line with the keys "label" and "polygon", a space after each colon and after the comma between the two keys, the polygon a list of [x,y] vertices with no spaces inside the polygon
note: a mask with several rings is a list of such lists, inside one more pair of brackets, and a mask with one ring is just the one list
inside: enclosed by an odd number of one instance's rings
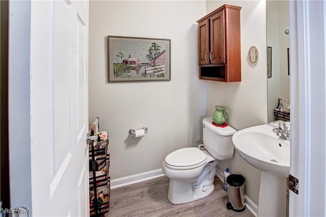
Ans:
{"label": "white basin of the pedestal sink, without its pedestal", "polygon": [[269,125],[259,125],[236,132],[232,141],[240,156],[260,171],[288,177],[290,141],[278,137]]}

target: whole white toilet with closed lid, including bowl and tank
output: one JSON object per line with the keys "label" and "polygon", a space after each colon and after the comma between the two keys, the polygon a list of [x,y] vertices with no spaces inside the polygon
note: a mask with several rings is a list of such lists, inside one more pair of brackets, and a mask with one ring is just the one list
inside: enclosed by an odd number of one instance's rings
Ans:
{"label": "whole white toilet with closed lid, including bowl and tank", "polygon": [[170,178],[168,199],[173,204],[187,203],[208,196],[214,190],[217,160],[233,156],[230,126],[220,128],[212,125],[212,117],[203,119],[203,142],[206,150],[188,147],[168,154],[162,171]]}

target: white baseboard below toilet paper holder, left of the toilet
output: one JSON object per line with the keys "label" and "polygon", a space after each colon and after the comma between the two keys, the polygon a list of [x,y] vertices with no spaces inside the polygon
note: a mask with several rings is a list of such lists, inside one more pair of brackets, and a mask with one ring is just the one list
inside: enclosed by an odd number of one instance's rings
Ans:
{"label": "white baseboard below toilet paper holder, left of the toilet", "polygon": [[110,181],[110,189],[124,187],[129,184],[134,184],[134,183],[150,180],[153,178],[158,178],[161,176],[165,176],[164,173],[162,172],[162,169],[157,169],[157,170],[152,170],[152,171],[139,173],[135,175],[129,175],[122,178],[112,179]]}

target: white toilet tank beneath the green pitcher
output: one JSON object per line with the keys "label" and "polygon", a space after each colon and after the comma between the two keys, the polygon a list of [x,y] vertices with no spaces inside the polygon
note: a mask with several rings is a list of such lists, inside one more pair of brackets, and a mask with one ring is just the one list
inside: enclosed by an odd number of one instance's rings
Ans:
{"label": "white toilet tank beneath the green pitcher", "polygon": [[233,156],[232,136],[236,132],[232,127],[216,127],[212,117],[203,119],[203,142],[206,150],[218,160],[228,160]]}

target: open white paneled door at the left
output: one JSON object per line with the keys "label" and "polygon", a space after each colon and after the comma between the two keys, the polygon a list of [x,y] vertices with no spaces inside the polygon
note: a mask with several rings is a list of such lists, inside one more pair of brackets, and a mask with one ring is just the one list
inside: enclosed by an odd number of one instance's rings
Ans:
{"label": "open white paneled door at the left", "polygon": [[31,2],[33,216],[88,216],[88,1]]}

